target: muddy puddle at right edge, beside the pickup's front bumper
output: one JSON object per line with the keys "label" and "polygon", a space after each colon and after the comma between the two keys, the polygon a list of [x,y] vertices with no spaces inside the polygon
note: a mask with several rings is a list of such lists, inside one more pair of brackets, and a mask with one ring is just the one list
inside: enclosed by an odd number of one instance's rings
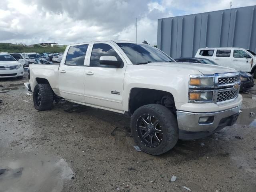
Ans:
{"label": "muddy puddle at right edge, beside the pickup's front bumper", "polygon": [[[236,123],[256,127],[256,108],[241,109],[241,111]],[[251,117],[250,112],[254,112],[255,115]]]}

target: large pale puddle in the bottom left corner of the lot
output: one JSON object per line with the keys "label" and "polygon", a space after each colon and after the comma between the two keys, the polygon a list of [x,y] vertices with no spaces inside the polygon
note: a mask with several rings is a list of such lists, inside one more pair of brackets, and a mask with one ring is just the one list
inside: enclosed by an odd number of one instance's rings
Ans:
{"label": "large pale puddle in the bottom left corner of the lot", "polygon": [[62,158],[35,154],[16,156],[19,157],[0,158],[0,192],[61,192],[64,180],[73,176]]}

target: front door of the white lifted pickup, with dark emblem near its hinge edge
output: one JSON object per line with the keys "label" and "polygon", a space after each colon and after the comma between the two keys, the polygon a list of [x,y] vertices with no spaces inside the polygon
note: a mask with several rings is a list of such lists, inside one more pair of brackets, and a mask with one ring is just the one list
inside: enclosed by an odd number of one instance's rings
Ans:
{"label": "front door of the white lifted pickup, with dark emblem near its hinge edge", "polygon": [[[120,67],[100,64],[101,56],[115,56]],[[94,43],[90,48],[85,70],[85,102],[94,106],[123,110],[123,87],[126,61],[116,47],[109,43]]]}

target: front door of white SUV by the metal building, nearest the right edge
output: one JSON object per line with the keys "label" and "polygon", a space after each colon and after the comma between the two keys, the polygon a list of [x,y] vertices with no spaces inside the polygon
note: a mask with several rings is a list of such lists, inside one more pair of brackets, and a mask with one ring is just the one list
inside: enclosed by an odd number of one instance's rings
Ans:
{"label": "front door of white SUV by the metal building, nearest the right edge", "polygon": [[251,71],[252,57],[248,53],[237,49],[233,50],[232,56],[231,64],[233,68],[245,72]]}

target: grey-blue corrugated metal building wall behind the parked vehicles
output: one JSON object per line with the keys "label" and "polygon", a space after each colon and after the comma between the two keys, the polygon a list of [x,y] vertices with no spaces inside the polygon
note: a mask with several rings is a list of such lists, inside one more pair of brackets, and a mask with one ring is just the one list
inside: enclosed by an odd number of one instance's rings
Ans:
{"label": "grey-blue corrugated metal building wall behind the parked vehicles", "polygon": [[256,6],[158,19],[157,47],[172,58],[195,56],[204,47],[256,52]]}

